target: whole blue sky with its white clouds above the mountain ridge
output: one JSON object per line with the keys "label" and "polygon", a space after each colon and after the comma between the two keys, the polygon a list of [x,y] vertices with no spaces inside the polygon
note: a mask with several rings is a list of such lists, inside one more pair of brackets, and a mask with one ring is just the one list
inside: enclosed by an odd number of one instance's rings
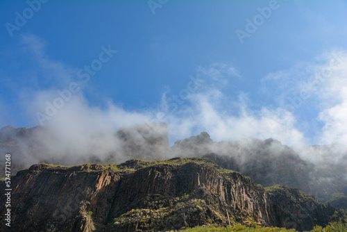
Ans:
{"label": "whole blue sky with its white clouds above the mountain ridge", "polygon": [[0,128],[160,121],[171,142],[201,131],[344,142],[346,12],[346,1],[0,1]]}

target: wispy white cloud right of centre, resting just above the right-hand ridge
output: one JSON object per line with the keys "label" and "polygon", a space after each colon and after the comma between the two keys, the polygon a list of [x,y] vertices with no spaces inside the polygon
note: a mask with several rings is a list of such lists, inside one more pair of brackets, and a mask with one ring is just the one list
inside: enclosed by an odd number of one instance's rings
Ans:
{"label": "wispy white cloud right of centre, resting just above the right-hand ridge", "polygon": [[[243,94],[232,105],[237,114],[225,110],[226,98],[219,90],[192,94],[191,106],[187,113],[168,117],[169,132],[186,138],[192,134],[207,131],[213,140],[230,141],[243,138],[276,138],[286,144],[303,144],[304,135],[295,128],[295,118],[280,123],[276,110],[262,108],[259,112],[248,108],[247,97]],[[232,109],[235,111],[235,109]],[[180,125],[184,125],[181,128]]]}

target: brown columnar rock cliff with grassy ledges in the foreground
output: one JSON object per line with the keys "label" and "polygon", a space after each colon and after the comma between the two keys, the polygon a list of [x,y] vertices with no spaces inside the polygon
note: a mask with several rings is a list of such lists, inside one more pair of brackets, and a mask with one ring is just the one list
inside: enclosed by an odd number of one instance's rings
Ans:
{"label": "brown columnar rock cliff with grassy ledges in the foreground", "polygon": [[130,160],[118,167],[40,164],[11,181],[13,231],[163,231],[227,224],[227,210],[231,223],[303,231],[327,224],[335,211],[298,190],[266,192],[201,158]]}

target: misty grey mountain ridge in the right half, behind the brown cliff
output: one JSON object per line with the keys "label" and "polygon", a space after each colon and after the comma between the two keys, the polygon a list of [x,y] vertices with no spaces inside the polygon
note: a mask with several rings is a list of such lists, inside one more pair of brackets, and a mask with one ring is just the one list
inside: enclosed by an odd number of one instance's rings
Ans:
{"label": "misty grey mountain ridge in the right half, behind the brown cliff", "polygon": [[[308,155],[313,158],[304,160]],[[213,142],[203,132],[175,142],[171,156],[208,157],[265,187],[298,188],[324,202],[337,192],[347,195],[347,153],[336,144],[305,147],[298,153],[273,139]]]}

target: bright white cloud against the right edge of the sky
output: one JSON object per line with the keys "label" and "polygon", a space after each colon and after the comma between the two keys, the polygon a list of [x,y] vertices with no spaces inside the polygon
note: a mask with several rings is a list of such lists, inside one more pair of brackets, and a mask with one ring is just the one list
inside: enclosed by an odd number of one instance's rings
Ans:
{"label": "bright white cloud against the right edge of the sky", "polygon": [[[347,53],[332,49],[310,62],[269,74],[262,80],[263,92],[271,93],[279,107],[316,112],[323,122],[310,140],[320,144],[346,141],[347,136]],[[277,87],[277,88],[276,88]],[[305,117],[305,115],[303,115]],[[312,115],[310,116],[312,117]]]}

